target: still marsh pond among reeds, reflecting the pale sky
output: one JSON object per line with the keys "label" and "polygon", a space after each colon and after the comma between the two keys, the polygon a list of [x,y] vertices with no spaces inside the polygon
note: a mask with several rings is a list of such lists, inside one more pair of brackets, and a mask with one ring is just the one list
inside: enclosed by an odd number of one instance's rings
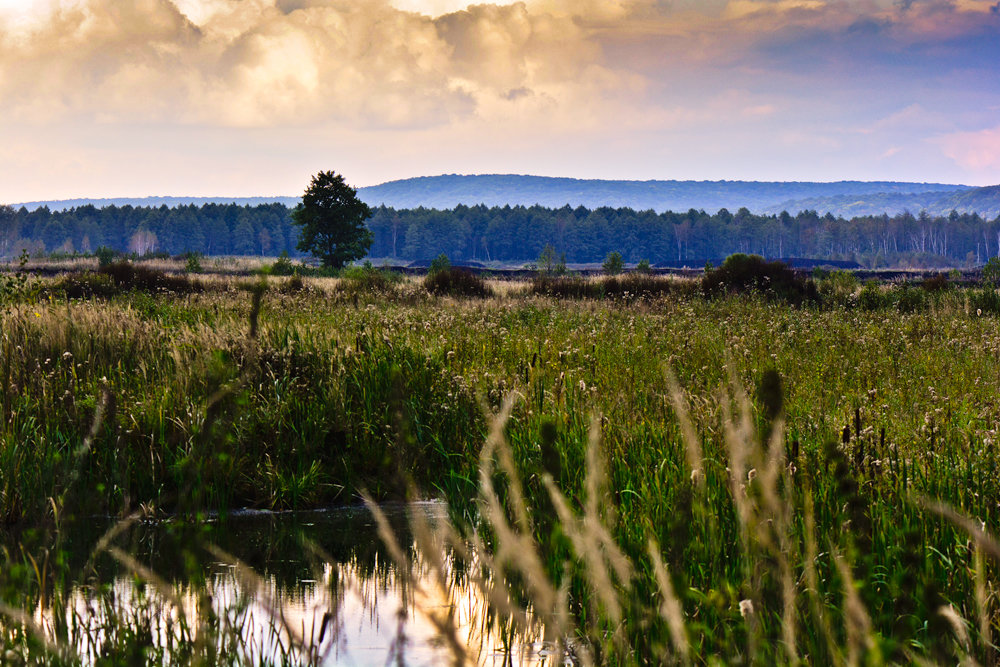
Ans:
{"label": "still marsh pond among reeds, reflecting the pale sky", "polygon": [[[113,522],[78,523],[65,540],[76,572],[68,594],[60,611],[40,606],[35,618],[55,626],[62,619],[54,615],[62,614],[85,664],[108,641],[105,628],[120,632],[123,623],[132,624],[151,644],[169,646],[178,633],[197,634],[206,622],[230,637],[220,650],[238,651],[246,662],[450,664],[454,645],[441,641],[432,622],[442,614],[455,619],[469,662],[552,664],[545,645],[497,626],[451,551],[442,548],[447,586],[415,585],[428,559],[413,539],[408,513],[433,524],[446,519],[443,504],[384,511],[410,574],[392,559],[364,506],[236,512],[197,524],[138,522],[120,526],[111,549],[98,547],[94,535],[114,529]],[[117,620],[109,623],[112,617]]]}

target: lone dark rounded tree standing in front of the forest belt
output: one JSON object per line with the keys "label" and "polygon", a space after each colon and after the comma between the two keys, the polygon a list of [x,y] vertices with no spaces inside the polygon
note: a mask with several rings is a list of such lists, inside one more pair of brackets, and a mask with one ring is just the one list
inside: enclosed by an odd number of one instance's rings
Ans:
{"label": "lone dark rounded tree standing in front of the forest belt", "polygon": [[302,203],[292,211],[292,222],[302,228],[299,250],[318,257],[323,266],[342,268],[360,259],[372,244],[365,220],[372,216],[368,204],[344,177],[321,171],[302,195]]}

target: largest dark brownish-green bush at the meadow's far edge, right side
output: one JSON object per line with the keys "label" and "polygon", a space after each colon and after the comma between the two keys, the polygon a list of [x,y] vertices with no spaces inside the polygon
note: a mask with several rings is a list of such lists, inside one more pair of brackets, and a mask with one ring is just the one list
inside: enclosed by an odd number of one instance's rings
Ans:
{"label": "largest dark brownish-green bush at the meadow's far edge, right side", "polygon": [[717,269],[706,267],[702,289],[707,296],[759,292],[796,304],[819,300],[816,283],[798,278],[784,262],[742,253],[730,255]]}

